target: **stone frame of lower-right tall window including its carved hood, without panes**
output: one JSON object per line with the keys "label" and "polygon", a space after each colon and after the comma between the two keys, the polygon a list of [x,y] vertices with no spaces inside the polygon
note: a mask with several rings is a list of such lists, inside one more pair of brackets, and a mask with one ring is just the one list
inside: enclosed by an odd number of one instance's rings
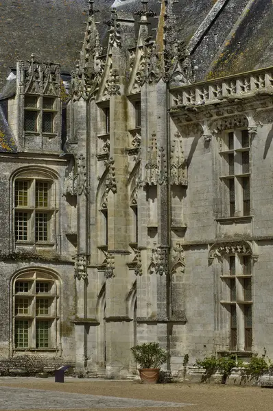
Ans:
{"label": "stone frame of lower-right tall window including its carved hood, without panes", "polygon": [[[209,249],[209,266],[216,260],[215,270],[217,271],[217,318],[219,327],[219,337],[221,347],[226,347],[224,351],[251,352],[254,346],[253,323],[251,327],[246,324],[246,306],[251,306],[252,321],[253,315],[253,278],[254,263],[258,260],[257,244],[249,241],[239,242],[218,242]],[[233,270],[230,266],[230,258],[233,258],[235,265]],[[248,271],[244,269],[244,258],[248,258]],[[251,284],[252,299],[246,299],[245,280]],[[235,294],[231,282],[235,283]],[[237,325],[232,323],[232,307],[235,307]],[[237,329],[236,344],[232,342],[232,328]],[[251,347],[246,342],[246,329],[251,329]],[[223,350],[221,350],[223,351]]]}

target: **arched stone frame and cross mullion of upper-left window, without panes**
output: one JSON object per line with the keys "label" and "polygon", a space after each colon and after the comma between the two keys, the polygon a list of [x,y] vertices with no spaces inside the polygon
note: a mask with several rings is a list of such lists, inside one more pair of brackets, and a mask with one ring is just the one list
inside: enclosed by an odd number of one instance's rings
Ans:
{"label": "arched stone frame and cross mullion of upper-left window, without panes", "polygon": [[[27,194],[29,203],[27,206],[16,206],[16,182],[27,182]],[[47,207],[36,206],[36,182],[49,183],[49,198]],[[60,232],[60,181],[58,175],[49,169],[23,167],[12,175],[12,234],[14,238],[14,249],[19,250],[21,247],[57,247],[57,238]],[[16,213],[27,214],[27,238],[17,239],[15,234]],[[47,214],[47,240],[38,240],[36,238],[36,214]]]}

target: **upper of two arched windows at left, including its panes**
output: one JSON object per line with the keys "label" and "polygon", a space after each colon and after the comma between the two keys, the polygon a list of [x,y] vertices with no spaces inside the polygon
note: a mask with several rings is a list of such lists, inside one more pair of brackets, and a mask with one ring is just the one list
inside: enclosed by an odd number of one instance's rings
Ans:
{"label": "upper of two arched windows at left, including its panes", "polygon": [[47,171],[22,171],[14,178],[16,245],[56,244],[56,183],[56,175]]}

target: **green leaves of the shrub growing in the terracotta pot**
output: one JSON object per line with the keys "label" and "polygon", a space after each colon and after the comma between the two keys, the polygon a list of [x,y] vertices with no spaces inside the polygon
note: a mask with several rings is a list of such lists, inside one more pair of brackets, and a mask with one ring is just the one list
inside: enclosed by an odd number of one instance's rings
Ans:
{"label": "green leaves of the shrub growing in the terracotta pot", "polygon": [[158,368],[167,361],[168,354],[158,343],[144,343],[131,348],[134,360],[141,369]]}

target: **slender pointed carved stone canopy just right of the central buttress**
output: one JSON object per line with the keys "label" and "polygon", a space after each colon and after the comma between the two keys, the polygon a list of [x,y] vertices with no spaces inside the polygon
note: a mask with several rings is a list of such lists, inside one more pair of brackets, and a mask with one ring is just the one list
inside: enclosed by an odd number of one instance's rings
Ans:
{"label": "slender pointed carved stone canopy just right of the central buttress", "polygon": [[170,184],[187,186],[187,159],[182,150],[182,136],[176,133],[171,145]]}

